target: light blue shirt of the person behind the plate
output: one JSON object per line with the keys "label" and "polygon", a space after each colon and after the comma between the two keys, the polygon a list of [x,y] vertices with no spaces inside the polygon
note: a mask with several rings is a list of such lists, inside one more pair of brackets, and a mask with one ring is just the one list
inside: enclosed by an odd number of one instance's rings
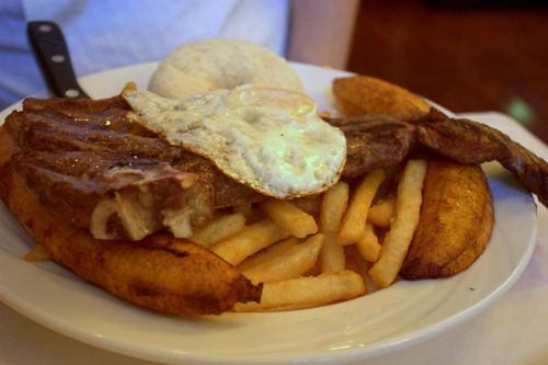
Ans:
{"label": "light blue shirt of the person behind the plate", "polygon": [[26,22],[61,27],[77,76],[160,60],[203,38],[239,38],[284,55],[287,0],[1,0],[0,110],[45,89]]}

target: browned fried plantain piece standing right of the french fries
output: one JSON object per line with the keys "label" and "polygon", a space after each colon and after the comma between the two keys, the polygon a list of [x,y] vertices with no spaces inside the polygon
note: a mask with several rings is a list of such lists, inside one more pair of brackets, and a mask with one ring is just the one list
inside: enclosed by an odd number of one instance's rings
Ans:
{"label": "browned fried plantain piece standing right of the french fries", "polygon": [[493,227],[491,191],[477,164],[431,160],[421,217],[400,276],[446,277],[470,266]]}

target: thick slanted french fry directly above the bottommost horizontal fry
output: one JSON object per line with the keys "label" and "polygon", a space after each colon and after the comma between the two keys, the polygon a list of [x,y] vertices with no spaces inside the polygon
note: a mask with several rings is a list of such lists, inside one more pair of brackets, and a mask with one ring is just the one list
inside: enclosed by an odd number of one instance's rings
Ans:
{"label": "thick slanted french fry directly above the bottommost horizontal fry", "polygon": [[240,270],[240,272],[254,284],[299,277],[316,264],[323,240],[323,235],[315,235],[305,242],[295,244],[287,251],[272,258],[272,260],[250,270]]}

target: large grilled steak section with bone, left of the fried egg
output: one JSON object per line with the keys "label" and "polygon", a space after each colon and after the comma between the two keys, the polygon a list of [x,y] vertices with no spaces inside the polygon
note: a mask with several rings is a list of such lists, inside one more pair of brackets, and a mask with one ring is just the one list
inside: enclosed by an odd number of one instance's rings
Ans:
{"label": "large grilled steak section with bone, left of the fried egg", "polygon": [[[13,167],[62,218],[92,232],[100,221],[100,238],[140,239],[170,224],[184,226],[182,219],[202,226],[215,208],[261,198],[206,159],[128,122],[128,111],[121,96],[27,99],[5,122],[20,148]],[[104,216],[109,209],[119,217]]]}

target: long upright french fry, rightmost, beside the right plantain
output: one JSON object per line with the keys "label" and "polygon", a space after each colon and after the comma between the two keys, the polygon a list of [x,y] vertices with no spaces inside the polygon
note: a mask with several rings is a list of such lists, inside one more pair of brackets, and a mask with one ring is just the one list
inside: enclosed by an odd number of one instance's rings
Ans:
{"label": "long upright french fry, rightmost, beside the right plantain", "polygon": [[396,218],[385,237],[378,261],[369,269],[369,276],[379,287],[390,285],[398,275],[419,225],[422,185],[426,161],[410,160],[398,184]]}

